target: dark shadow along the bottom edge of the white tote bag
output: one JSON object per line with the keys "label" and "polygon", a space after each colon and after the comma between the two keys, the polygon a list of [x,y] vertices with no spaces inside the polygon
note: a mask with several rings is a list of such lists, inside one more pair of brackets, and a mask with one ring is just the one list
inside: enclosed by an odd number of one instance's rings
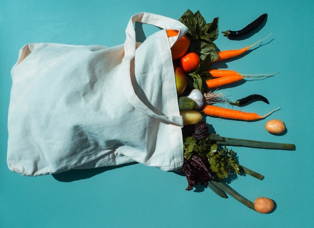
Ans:
{"label": "dark shadow along the bottom edge of the white tote bag", "polygon": [[109,166],[109,167],[101,167],[101,168],[91,168],[91,169],[72,169],[65,172],[60,172],[57,174],[52,174],[52,176],[61,182],[72,182],[75,180],[82,180],[93,177],[105,171],[109,171],[116,168],[121,168],[128,165],[137,164],[136,162],[124,164],[124,165],[117,165],[117,166]]}

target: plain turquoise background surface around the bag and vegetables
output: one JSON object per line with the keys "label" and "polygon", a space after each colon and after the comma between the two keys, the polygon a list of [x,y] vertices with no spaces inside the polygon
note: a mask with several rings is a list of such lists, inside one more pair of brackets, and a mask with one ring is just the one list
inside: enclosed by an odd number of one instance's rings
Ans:
{"label": "plain turquoise background surface around the bag and vegetables", "polygon": [[[200,10],[207,22],[219,17],[219,30],[241,29],[263,13],[265,26],[252,37],[230,41],[219,35],[221,50],[238,49],[272,35],[248,55],[217,67],[242,74],[280,73],[221,92],[233,100],[261,94],[270,104],[241,108],[270,117],[256,122],[207,118],[226,137],[293,143],[295,151],[233,147],[242,165],[260,172],[260,181],[240,176],[230,185],[250,200],[272,198],[276,210],[257,213],[232,197],[198,186],[186,191],[185,176],[132,164],[25,177],[6,163],[10,70],[27,43],[74,45],[124,43],[130,17],[149,12],[179,19]],[[313,12],[306,1],[1,1],[0,7],[0,226],[1,227],[313,227]],[[153,29],[146,28],[149,34]],[[153,51],[153,50],[152,50]],[[287,132],[269,134],[264,124],[278,118]],[[56,142],[57,143],[57,142]]]}

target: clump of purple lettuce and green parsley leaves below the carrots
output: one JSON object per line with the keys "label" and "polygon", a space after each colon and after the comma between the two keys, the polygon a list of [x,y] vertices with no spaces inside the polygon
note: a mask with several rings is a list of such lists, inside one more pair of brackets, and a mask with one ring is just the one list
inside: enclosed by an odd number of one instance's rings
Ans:
{"label": "clump of purple lettuce and green parsley leaves below the carrots", "polygon": [[210,180],[222,180],[230,174],[242,174],[241,166],[233,150],[220,148],[216,141],[206,135],[206,121],[195,125],[195,131],[184,138],[184,167],[191,190],[193,185]]}

